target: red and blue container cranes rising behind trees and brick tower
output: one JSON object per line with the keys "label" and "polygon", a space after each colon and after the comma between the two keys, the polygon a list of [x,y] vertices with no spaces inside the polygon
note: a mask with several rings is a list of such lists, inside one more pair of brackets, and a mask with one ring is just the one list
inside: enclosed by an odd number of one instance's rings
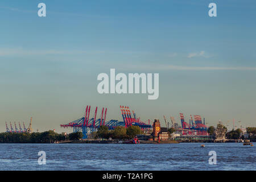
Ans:
{"label": "red and blue container cranes rising behind trees and brick tower", "polygon": [[[137,117],[136,113],[134,110],[130,110],[129,106],[120,106],[121,110],[121,116],[123,121],[118,121],[117,119],[110,119],[109,121],[106,121],[106,113],[107,113],[107,108],[102,108],[100,117],[97,118],[97,111],[98,107],[96,107],[93,117],[90,118],[90,106],[86,106],[85,109],[85,114],[84,117],[80,119],[76,119],[75,121],[69,122],[64,125],[60,125],[61,127],[67,128],[67,127],[72,127],[73,132],[76,133],[78,131],[82,132],[82,139],[87,139],[88,134],[97,131],[98,128],[102,125],[107,126],[109,130],[115,129],[117,126],[123,126],[123,127],[129,127],[129,126],[139,126],[143,133],[145,134],[150,134],[152,130],[154,131],[154,123],[148,119],[148,121],[143,122],[141,121],[140,117]],[[132,113],[132,114],[131,114]],[[201,116],[200,115],[194,115],[194,119],[192,118],[189,119],[189,123],[185,122],[184,115],[183,113],[180,113],[180,121],[181,121],[181,126],[179,126],[174,117],[170,117],[171,119],[171,127],[174,127],[177,133],[180,133],[180,135],[194,135],[194,136],[208,136],[207,130],[208,126],[205,125],[205,119],[204,123],[202,122]],[[160,122],[159,126],[157,126],[157,133],[160,135],[162,133],[167,133],[167,129],[170,126],[170,123],[167,122],[166,117],[164,116],[164,121],[166,123],[166,127],[160,127]],[[167,125],[168,123],[168,125]],[[164,135],[163,135],[164,136]],[[167,140],[168,137],[161,137],[161,140]]]}

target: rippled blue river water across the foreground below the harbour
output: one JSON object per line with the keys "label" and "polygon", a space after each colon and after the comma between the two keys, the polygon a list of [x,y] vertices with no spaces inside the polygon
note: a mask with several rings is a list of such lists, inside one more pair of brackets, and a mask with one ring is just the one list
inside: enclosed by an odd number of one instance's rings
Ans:
{"label": "rippled blue river water across the foreground below the harbour", "polygon": [[0,144],[0,154],[0,170],[256,170],[256,147],[242,143]]}

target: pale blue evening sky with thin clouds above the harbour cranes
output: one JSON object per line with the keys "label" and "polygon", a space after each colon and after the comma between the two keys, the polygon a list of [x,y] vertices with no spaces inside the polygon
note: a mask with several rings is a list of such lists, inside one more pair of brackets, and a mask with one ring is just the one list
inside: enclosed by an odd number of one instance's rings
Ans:
{"label": "pale blue evening sky with thin clouds above the harbour cranes", "polygon": [[[38,4],[46,4],[46,17]],[[217,17],[209,17],[209,3]],[[60,128],[119,105],[142,121],[198,114],[209,125],[256,123],[256,2],[203,0],[0,2],[0,132],[32,117],[34,131]],[[97,76],[159,73],[159,98],[99,94]],[[92,113],[93,113],[92,111]],[[92,114],[91,113],[91,114]],[[100,114],[98,114],[100,117]],[[10,128],[10,125],[9,125]]]}

